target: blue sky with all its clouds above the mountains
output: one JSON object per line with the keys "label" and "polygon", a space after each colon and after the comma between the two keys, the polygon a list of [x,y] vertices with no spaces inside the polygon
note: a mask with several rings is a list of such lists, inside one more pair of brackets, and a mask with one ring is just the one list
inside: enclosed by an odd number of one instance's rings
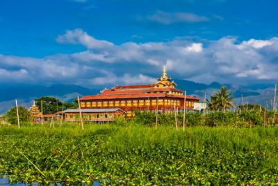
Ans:
{"label": "blue sky with all its clouds above the mountains", "polygon": [[[0,83],[278,79],[278,1],[0,1]],[[42,69],[43,68],[43,69]],[[34,78],[35,77],[35,78]]]}

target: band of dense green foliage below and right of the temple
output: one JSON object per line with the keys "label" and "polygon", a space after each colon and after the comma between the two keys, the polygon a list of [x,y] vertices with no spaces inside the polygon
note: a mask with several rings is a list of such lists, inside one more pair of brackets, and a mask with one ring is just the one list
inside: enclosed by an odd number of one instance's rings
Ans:
{"label": "band of dense green foliage below and right of the temple", "polygon": [[[159,113],[158,125],[175,125],[174,113]],[[272,111],[211,111],[208,113],[189,112],[185,114],[186,126],[231,126],[231,127],[255,127],[278,125],[278,112]],[[136,111],[136,123],[141,125],[154,126],[156,123],[156,113]],[[183,111],[177,114],[177,124],[183,125]]]}

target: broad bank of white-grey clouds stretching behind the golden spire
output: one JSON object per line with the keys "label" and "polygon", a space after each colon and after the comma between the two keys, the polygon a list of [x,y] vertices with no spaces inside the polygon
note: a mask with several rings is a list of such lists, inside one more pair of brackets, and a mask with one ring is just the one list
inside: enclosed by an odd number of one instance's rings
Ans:
{"label": "broad bank of white-grey clouds stretching behind the golden spire", "polygon": [[206,43],[178,38],[167,42],[98,40],[82,29],[67,31],[57,42],[87,47],[83,52],[42,59],[0,54],[0,82],[67,83],[83,86],[149,84],[165,65],[172,78],[197,82],[243,83],[278,80],[278,38],[224,37]]}

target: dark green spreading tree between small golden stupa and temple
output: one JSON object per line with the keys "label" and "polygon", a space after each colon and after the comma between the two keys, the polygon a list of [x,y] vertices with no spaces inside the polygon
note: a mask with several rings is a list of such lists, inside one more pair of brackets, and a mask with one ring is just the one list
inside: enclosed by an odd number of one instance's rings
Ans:
{"label": "dark green spreading tree between small golden stupa and temple", "polygon": [[60,100],[54,97],[41,97],[35,99],[37,107],[41,111],[41,102],[43,114],[55,114],[58,111],[63,111],[65,109],[76,109],[78,104],[69,103],[69,102],[61,102]]}

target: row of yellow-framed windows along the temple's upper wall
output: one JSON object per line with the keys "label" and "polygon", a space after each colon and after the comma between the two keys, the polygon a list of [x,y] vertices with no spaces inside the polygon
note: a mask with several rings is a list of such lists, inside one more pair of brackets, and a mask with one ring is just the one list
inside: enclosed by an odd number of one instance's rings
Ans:
{"label": "row of yellow-framed windows along the temple's upper wall", "polygon": [[[81,107],[140,107],[140,106],[181,106],[179,100],[128,100],[128,101],[103,101],[103,102],[81,102]],[[193,102],[186,102],[186,107],[193,107]]]}

